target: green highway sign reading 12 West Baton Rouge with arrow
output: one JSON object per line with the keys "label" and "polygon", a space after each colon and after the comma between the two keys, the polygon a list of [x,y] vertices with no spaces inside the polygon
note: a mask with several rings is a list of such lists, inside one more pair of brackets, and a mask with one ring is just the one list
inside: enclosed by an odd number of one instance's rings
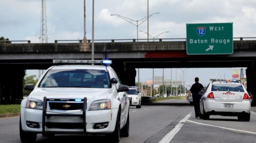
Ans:
{"label": "green highway sign reading 12 West Baton Rouge with arrow", "polygon": [[233,23],[187,24],[187,54],[232,54]]}

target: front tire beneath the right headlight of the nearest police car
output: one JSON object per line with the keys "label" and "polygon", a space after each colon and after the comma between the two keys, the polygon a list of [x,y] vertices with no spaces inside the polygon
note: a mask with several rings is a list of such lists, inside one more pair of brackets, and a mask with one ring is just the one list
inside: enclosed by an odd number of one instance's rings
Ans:
{"label": "front tire beneath the right headlight of the nearest police car", "polygon": [[118,116],[116,116],[115,131],[110,134],[106,134],[106,137],[111,142],[119,142],[120,140],[120,109],[118,110]]}

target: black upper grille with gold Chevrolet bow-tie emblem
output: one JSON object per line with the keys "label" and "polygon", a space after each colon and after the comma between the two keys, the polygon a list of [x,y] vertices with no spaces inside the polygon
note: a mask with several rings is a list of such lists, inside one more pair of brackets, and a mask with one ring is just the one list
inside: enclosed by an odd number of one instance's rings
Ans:
{"label": "black upper grille with gold Chevrolet bow-tie emblem", "polygon": [[49,102],[49,109],[55,110],[82,110],[83,102]]}

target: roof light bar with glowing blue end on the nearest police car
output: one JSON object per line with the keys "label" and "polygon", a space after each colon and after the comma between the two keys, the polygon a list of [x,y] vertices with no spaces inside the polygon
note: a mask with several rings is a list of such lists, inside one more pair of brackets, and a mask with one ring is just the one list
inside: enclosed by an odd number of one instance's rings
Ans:
{"label": "roof light bar with glowing blue end on the nearest police car", "polygon": [[111,60],[53,60],[55,64],[112,64]]}

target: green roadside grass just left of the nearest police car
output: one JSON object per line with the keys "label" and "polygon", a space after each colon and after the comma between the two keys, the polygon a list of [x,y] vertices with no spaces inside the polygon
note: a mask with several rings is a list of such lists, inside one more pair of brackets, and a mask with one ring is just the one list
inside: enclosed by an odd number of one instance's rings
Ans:
{"label": "green roadside grass just left of the nearest police car", "polygon": [[0,118],[17,116],[20,114],[20,104],[0,105]]}

